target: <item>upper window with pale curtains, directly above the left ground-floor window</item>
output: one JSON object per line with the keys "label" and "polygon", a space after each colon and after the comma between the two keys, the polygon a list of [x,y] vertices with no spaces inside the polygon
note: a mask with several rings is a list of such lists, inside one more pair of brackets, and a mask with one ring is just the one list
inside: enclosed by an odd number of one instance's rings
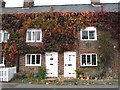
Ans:
{"label": "upper window with pale curtains, directly above the left ground-floor window", "polygon": [[42,30],[28,29],[26,32],[26,42],[42,42]]}

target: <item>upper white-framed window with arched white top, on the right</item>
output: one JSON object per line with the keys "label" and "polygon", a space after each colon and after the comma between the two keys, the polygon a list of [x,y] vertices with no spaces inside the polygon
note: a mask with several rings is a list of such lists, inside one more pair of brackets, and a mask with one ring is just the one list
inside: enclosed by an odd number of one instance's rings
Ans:
{"label": "upper white-framed window with arched white top, on the right", "polygon": [[87,27],[81,30],[81,40],[97,40],[97,32],[95,27]]}

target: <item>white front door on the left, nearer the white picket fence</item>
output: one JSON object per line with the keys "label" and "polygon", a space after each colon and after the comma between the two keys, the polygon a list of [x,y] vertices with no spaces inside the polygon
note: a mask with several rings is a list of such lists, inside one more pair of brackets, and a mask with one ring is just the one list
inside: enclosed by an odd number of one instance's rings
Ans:
{"label": "white front door on the left, nearer the white picket fence", "polygon": [[45,54],[47,77],[58,77],[58,53],[49,52]]}

